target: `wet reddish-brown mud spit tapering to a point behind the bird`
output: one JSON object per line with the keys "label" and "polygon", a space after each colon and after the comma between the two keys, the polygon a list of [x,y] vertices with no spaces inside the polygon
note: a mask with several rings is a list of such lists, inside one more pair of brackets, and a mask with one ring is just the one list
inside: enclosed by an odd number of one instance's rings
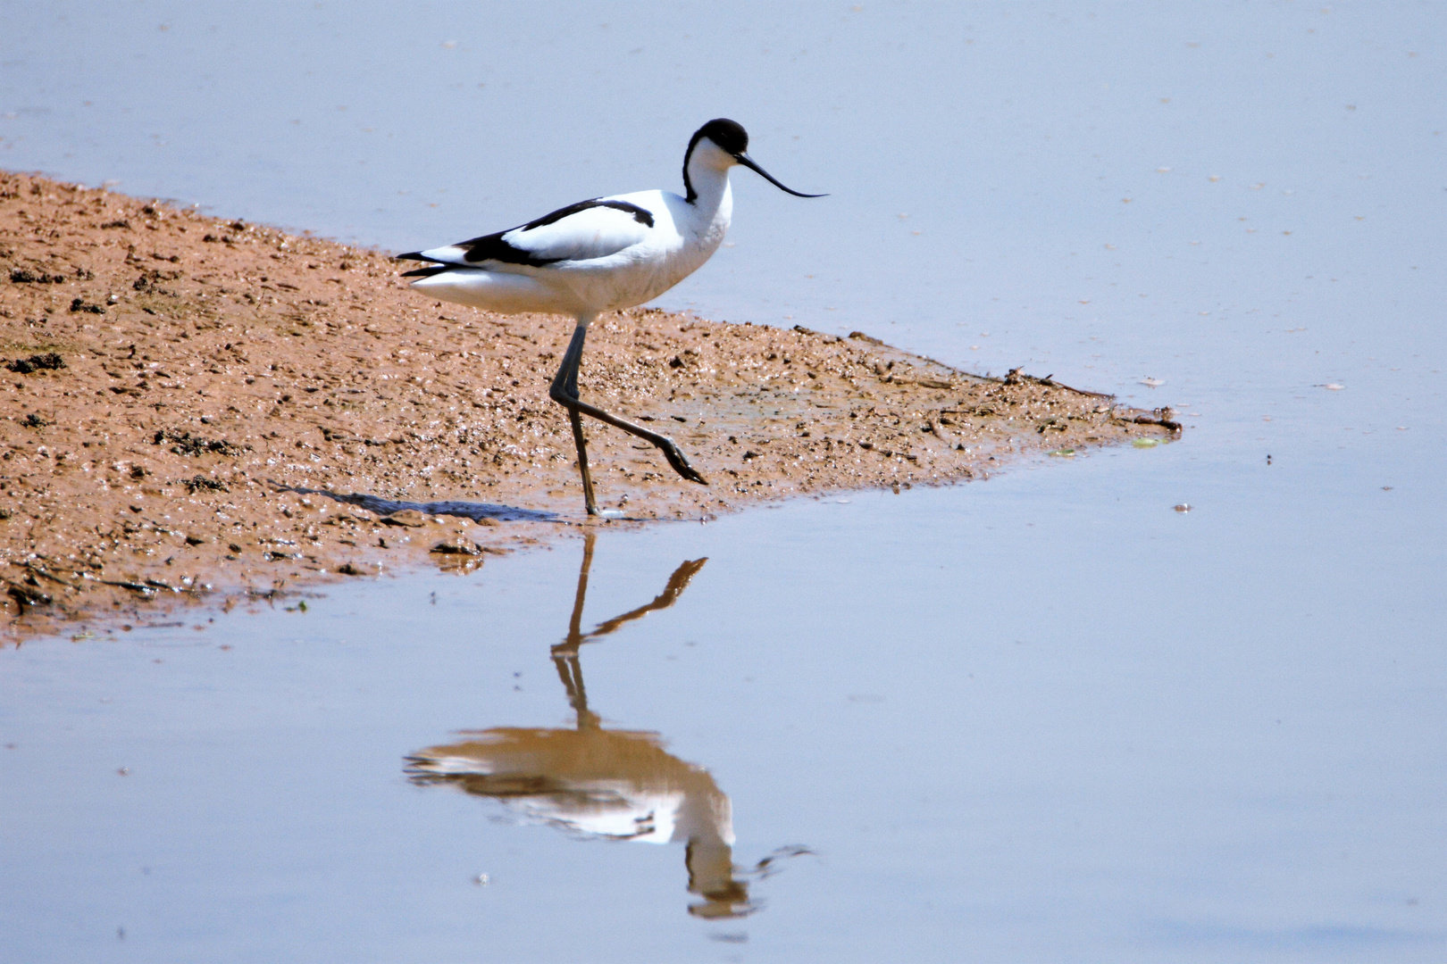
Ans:
{"label": "wet reddish-brown mud spit tapering to a point behind the bird", "polygon": [[[427,559],[469,568],[587,523],[547,397],[570,328],[421,298],[382,251],[0,173],[10,632]],[[657,309],[599,318],[580,384],[710,481],[589,423],[599,500],[634,522],[1178,431],[1169,410],[967,374],[860,332]]]}

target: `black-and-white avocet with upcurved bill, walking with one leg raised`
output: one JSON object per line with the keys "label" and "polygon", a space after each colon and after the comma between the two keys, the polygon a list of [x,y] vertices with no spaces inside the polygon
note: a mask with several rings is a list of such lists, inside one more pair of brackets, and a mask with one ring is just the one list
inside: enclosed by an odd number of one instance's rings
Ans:
{"label": "black-and-white avocet with upcurved bill, walking with one leg raised", "polygon": [[718,117],[693,132],[683,155],[684,194],[638,191],[579,201],[518,227],[457,244],[398,254],[425,262],[405,272],[411,286],[438,301],[499,314],[541,312],[576,319],[572,341],[548,389],[567,409],[589,516],[603,515],[587,471],[582,416],[651,442],[679,475],[708,484],[671,438],[583,402],[577,369],[587,325],[602,312],[653,301],[703,266],[734,214],[729,169],[744,166],[799,198],[748,156],[748,132]]}

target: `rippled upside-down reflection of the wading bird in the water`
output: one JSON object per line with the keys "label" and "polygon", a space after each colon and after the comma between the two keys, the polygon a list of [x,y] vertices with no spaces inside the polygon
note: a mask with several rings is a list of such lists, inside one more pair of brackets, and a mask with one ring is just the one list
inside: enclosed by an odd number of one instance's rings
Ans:
{"label": "rippled upside-down reflection of the wading bird in the water", "polygon": [[593,535],[587,533],[567,639],[553,646],[553,663],[577,714],[576,727],[463,730],[457,743],[407,757],[407,773],[414,783],[451,783],[467,793],[499,799],[528,819],[587,837],[654,844],[686,841],[689,893],[703,898],[689,906],[689,913],[748,915],[757,903],[750,900],[747,879],[768,876],[780,857],[807,850],[783,848],[752,870],[735,869],[729,798],[708,770],[667,753],[657,733],[605,728],[587,707],[579,662],[583,643],[673,606],[708,559],[684,562],[651,603],[583,633],[592,561]]}

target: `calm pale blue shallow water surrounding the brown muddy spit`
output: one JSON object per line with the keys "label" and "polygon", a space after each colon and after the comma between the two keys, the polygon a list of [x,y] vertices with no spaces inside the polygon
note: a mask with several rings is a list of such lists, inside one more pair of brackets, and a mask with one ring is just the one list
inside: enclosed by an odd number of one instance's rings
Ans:
{"label": "calm pale blue shallow water surrounding the brown muddy spit", "polygon": [[[862,7],[6,10],[0,166],[407,250],[732,116],[831,197],[664,306],[1191,428],[605,526],[580,634],[708,561],[576,668],[579,538],[7,650],[0,960],[1441,958],[1447,17]],[[499,728],[651,762],[408,772]]]}

